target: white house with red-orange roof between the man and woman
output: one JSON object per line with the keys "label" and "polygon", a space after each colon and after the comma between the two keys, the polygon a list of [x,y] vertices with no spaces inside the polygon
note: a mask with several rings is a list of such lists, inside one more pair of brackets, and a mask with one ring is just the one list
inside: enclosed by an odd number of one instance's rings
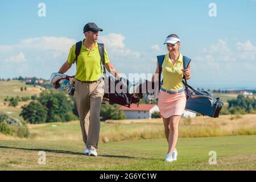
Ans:
{"label": "white house with red-orange roof between the man and woman", "polygon": [[126,119],[151,119],[151,114],[159,112],[159,108],[155,104],[132,104],[129,107],[120,107],[126,115]]}

